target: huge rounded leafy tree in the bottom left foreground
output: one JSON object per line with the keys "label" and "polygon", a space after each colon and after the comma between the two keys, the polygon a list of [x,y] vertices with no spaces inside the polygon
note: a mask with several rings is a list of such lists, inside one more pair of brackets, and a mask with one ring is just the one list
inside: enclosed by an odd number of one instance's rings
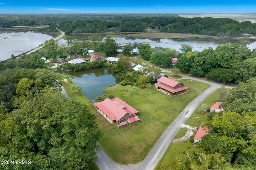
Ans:
{"label": "huge rounded leafy tree in the bottom left foreground", "polygon": [[0,111],[1,159],[29,159],[28,170],[92,169],[101,135],[86,105],[54,88],[19,101],[19,109],[4,117]]}

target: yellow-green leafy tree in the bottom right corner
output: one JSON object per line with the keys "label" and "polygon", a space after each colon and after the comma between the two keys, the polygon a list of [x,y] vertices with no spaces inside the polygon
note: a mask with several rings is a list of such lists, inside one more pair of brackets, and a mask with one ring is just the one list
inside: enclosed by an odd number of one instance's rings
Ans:
{"label": "yellow-green leafy tree in the bottom right corner", "polygon": [[221,137],[231,150],[234,167],[256,168],[255,115],[255,111],[241,114],[227,111],[212,117],[210,133]]}

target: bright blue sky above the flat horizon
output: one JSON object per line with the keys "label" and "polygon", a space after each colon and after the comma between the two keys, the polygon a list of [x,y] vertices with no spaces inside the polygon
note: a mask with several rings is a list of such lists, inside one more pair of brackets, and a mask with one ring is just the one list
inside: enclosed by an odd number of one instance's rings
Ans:
{"label": "bright blue sky above the flat horizon", "polygon": [[256,12],[256,0],[0,0],[0,13]]}

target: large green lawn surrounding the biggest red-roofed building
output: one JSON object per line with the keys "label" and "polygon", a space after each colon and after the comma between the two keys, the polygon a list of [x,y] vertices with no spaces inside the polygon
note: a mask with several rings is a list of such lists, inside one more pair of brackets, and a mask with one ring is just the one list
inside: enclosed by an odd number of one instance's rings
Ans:
{"label": "large green lawn surrounding the biggest red-roofed building", "polygon": [[[137,87],[135,94],[131,90],[133,86],[108,87],[104,93],[114,94],[140,111],[138,113],[140,123],[118,130],[96,111],[83,94],[75,94],[71,90],[72,86],[76,85],[72,82],[64,82],[65,75],[55,74],[63,83],[70,98],[86,104],[96,115],[98,127],[103,134],[99,142],[110,158],[120,164],[136,164],[144,160],[160,135],[184,107],[210,86],[194,80],[182,79],[181,82],[190,87],[190,92],[177,96],[168,96],[154,87],[150,92],[146,88],[139,92]],[[125,93],[124,89],[128,92]],[[132,144],[130,150],[124,148],[128,141]]]}

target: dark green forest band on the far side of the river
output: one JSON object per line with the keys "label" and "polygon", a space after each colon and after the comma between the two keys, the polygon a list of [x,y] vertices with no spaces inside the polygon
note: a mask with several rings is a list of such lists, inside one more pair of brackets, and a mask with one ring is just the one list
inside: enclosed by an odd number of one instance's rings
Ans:
{"label": "dark green forest band on the far side of the river", "polygon": [[118,21],[61,21],[59,27],[69,33],[142,32],[148,30],[169,33],[194,33],[220,37],[256,35],[256,23],[238,22],[229,18],[141,18]]}

